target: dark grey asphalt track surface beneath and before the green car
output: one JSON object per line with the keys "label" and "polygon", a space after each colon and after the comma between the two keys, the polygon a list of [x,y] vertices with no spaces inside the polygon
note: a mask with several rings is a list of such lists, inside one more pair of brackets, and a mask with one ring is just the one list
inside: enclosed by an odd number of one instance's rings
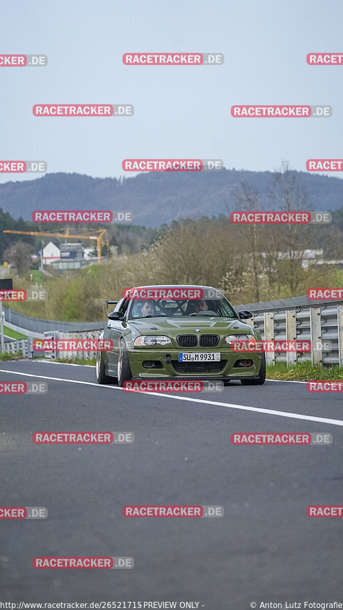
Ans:
{"label": "dark grey asphalt track surface beneath and before the green car", "polygon": [[[0,398],[0,504],[49,511],[44,521],[1,520],[2,600],[195,601],[211,610],[342,601],[342,521],[306,516],[309,504],[342,503],[339,395],[267,381],[200,398],[154,396],[97,386],[90,367],[0,369],[0,381],[48,382],[45,395]],[[32,432],[42,430],[132,431],[135,440],[35,445]],[[331,432],[333,443],[237,447],[233,432]],[[220,504],[225,515],[125,519],[125,504]],[[135,565],[32,567],[34,556],[52,555],[132,556]]]}

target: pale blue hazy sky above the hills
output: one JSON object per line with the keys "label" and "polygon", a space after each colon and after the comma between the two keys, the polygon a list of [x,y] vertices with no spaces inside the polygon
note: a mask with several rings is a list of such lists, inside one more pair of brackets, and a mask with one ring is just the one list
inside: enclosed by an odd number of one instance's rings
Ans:
{"label": "pale blue hazy sky above the hills", "polygon": [[[48,173],[134,176],[123,159],[222,159],[273,171],[286,159],[342,158],[341,0],[12,0],[0,53],[45,54],[0,68],[0,159],[45,160]],[[220,52],[217,66],[126,66],[126,52]],[[34,117],[34,104],[133,104],[133,117]],[[328,104],[330,118],[233,118],[235,104]],[[325,172],[323,172],[325,173]],[[328,173],[340,177],[342,173]],[[0,182],[39,174],[0,173]]]}

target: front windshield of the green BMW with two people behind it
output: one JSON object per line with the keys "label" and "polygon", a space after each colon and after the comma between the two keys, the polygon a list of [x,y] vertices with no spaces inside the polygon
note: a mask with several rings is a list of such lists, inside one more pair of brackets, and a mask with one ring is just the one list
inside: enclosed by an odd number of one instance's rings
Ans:
{"label": "front windshield of the green BMW with two people behind it", "polygon": [[237,318],[236,312],[226,301],[221,299],[198,300],[136,300],[131,301],[129,320],[156,317],[225,317]]}

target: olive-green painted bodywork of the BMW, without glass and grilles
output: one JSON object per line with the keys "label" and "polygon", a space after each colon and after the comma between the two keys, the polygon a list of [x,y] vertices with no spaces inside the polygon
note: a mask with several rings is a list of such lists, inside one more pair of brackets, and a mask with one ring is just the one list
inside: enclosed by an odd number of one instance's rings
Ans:
{"label": "olive-green painted bodywork of the BMW, without glass and grilles", "polygon": [[[211,287],[200,288],[214,290]],[[222,299],[225,299],[225,297],[222,296]],[[157,301],[155,303],[157,306],[159,305]],[[163,309],[165,301],[161,301],[161,303],[160,312],[168,311],[167,307]],[[132,300],[121,299],[114,310],[114,315],[120,315],[120,318],[109,319],[100,337],[101,339],[111,340],[114,345],[110,351],[103,351],[98,354],[99,362],[101,362],[101,358],[103,359],[104,375],[109,378],[118,378],[118,354],[121,361],[121,351],[124,350],[128,357],[129,373],[133,379],[216,378],[229,380],[258,378],[264,354],[233,351],[231,346],[225,344],[225,337],[245,334],[255,337],[256,341],[261,341],[261,333],[248,325],[246,321],[241,320],[229,301],[225,299],[225,307],[226,304],[232,311],[232,317],[211,315],[212,310],[193,315],[177,312],[179,317],[177,315],[142,317],[142,314],[140,314],[141,317],[137,317],[139,314],[132,314],[133,311],[137,311],[137,303],[134,304]],[[187,308],[186,301],[184,301],[183,307]],[[206,335],[217,336],[217,345],[200,346],[199,337]],[[168,345],[135,346],[135,340],[141,336],[166,336],[169,337],[171,343]],[[197,337],[197,345],[181,346],[179,336],[195,336]],[[206,339],[201,339],[201,341],[206,342]],[[184,363],[179,362],[180,353],[220,353],[220,361]],[[250,364],[248,366],[239,365],[239,361],[241,363],[250,361]]]}

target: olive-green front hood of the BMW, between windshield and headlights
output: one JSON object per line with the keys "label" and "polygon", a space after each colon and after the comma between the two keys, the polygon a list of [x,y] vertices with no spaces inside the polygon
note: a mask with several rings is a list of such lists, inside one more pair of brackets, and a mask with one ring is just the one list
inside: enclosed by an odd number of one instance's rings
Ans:
{"label": "olive-green front hood of the BMW, between windshield and headlights", "polygon": [[[196,319],[194,319],[196,318]],[[139,334],[167,334],[175,337],[179,334],[188,334],[194,332],[195,328],[199,328],[201,332],[215,333],[222,336],[228,334],[251,334],[251,326],[232,318],[142,318],[140,320],[129,320],[129,325],[133,326]]]}

